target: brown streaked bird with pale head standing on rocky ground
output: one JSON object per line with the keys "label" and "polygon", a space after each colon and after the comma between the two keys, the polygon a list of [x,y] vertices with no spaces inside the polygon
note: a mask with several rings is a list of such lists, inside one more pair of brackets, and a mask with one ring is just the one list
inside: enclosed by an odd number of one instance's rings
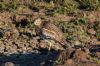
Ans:
{"label": "brown streaked bird with pale head standing on rocky ground", "polygon": [[[37,18],[34,21],[35,25],[35,32],[36,35],[40,36],[42,39],[49,40],[50,47],[52,45],[52,40],[55,42],[61,44],[62,47],[70,47],[69,44],[67,44],[67,41],[63,35],[63,32],[53,23],[46,21],[43,22],[41,18]],[[50,50],[50,48],[49,48]]]}

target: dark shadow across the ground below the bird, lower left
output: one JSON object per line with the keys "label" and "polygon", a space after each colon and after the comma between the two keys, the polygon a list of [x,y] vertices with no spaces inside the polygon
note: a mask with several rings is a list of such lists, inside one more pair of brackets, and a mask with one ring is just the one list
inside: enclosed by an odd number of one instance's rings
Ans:
{"label": "dark shadow across the ground below the bird, lower left", "polygon": [[[0,56],[0,66],[6,66],[13,63],[14,66],[53,66],[53,62],[59,56],[59,52],[52,50],[34,50],[28,54],[12,54],[9,56]],[[10,62],[10,63],[9,63]],[[6,64],[7,63],[7,64]],[[9,65],[7,65],[9,66]]]}

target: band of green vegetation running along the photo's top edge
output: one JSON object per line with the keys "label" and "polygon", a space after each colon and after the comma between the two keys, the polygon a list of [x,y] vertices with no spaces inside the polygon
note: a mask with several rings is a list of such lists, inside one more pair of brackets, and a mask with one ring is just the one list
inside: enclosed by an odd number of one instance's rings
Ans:
{"label": "band of green vegetation running along the photo's top edge", "polygon": [[[100,0],[30,0],[30,1],[19,1],[12,0],[11,2],[5,2],[5,0],[0,1],[0,10],[16,9],[19,5],[29,6],[32,9],[35,7],[39,8],[54,8],[54,15],[67,14],[67,13],[77,13],[81,9],[85,10],[99,10]],[[78,8],[80,7],[80,8]]]}

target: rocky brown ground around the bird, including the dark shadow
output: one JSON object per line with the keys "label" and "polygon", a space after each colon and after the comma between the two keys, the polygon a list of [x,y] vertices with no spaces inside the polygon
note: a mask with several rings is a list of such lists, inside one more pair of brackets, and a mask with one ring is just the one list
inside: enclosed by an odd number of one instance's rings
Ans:
{"label": "rocky brown ground around the bird, including the dark shadow", "polygon": [[[44,2],[0,9],[0,66],[100,66],[100,11],[59,14]],[[72,48],[61,51],[54,42],[48,51],[49,44],[34,30],[38,17],[58,26]]]}

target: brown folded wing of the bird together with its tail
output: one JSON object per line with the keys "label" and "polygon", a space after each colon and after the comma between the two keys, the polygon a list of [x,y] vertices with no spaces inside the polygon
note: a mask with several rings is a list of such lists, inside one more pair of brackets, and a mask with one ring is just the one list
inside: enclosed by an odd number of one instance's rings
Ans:
{"label": "brown folded wing of the bird together with its tail", "polygon": [[70,45],[67,44],[62,31],[58,27],[56,27],[54,24],[47,23],[42,28],[42,32],[46,37],[50,37],[56,42],[59,42],[62,46],[70,47]]}

